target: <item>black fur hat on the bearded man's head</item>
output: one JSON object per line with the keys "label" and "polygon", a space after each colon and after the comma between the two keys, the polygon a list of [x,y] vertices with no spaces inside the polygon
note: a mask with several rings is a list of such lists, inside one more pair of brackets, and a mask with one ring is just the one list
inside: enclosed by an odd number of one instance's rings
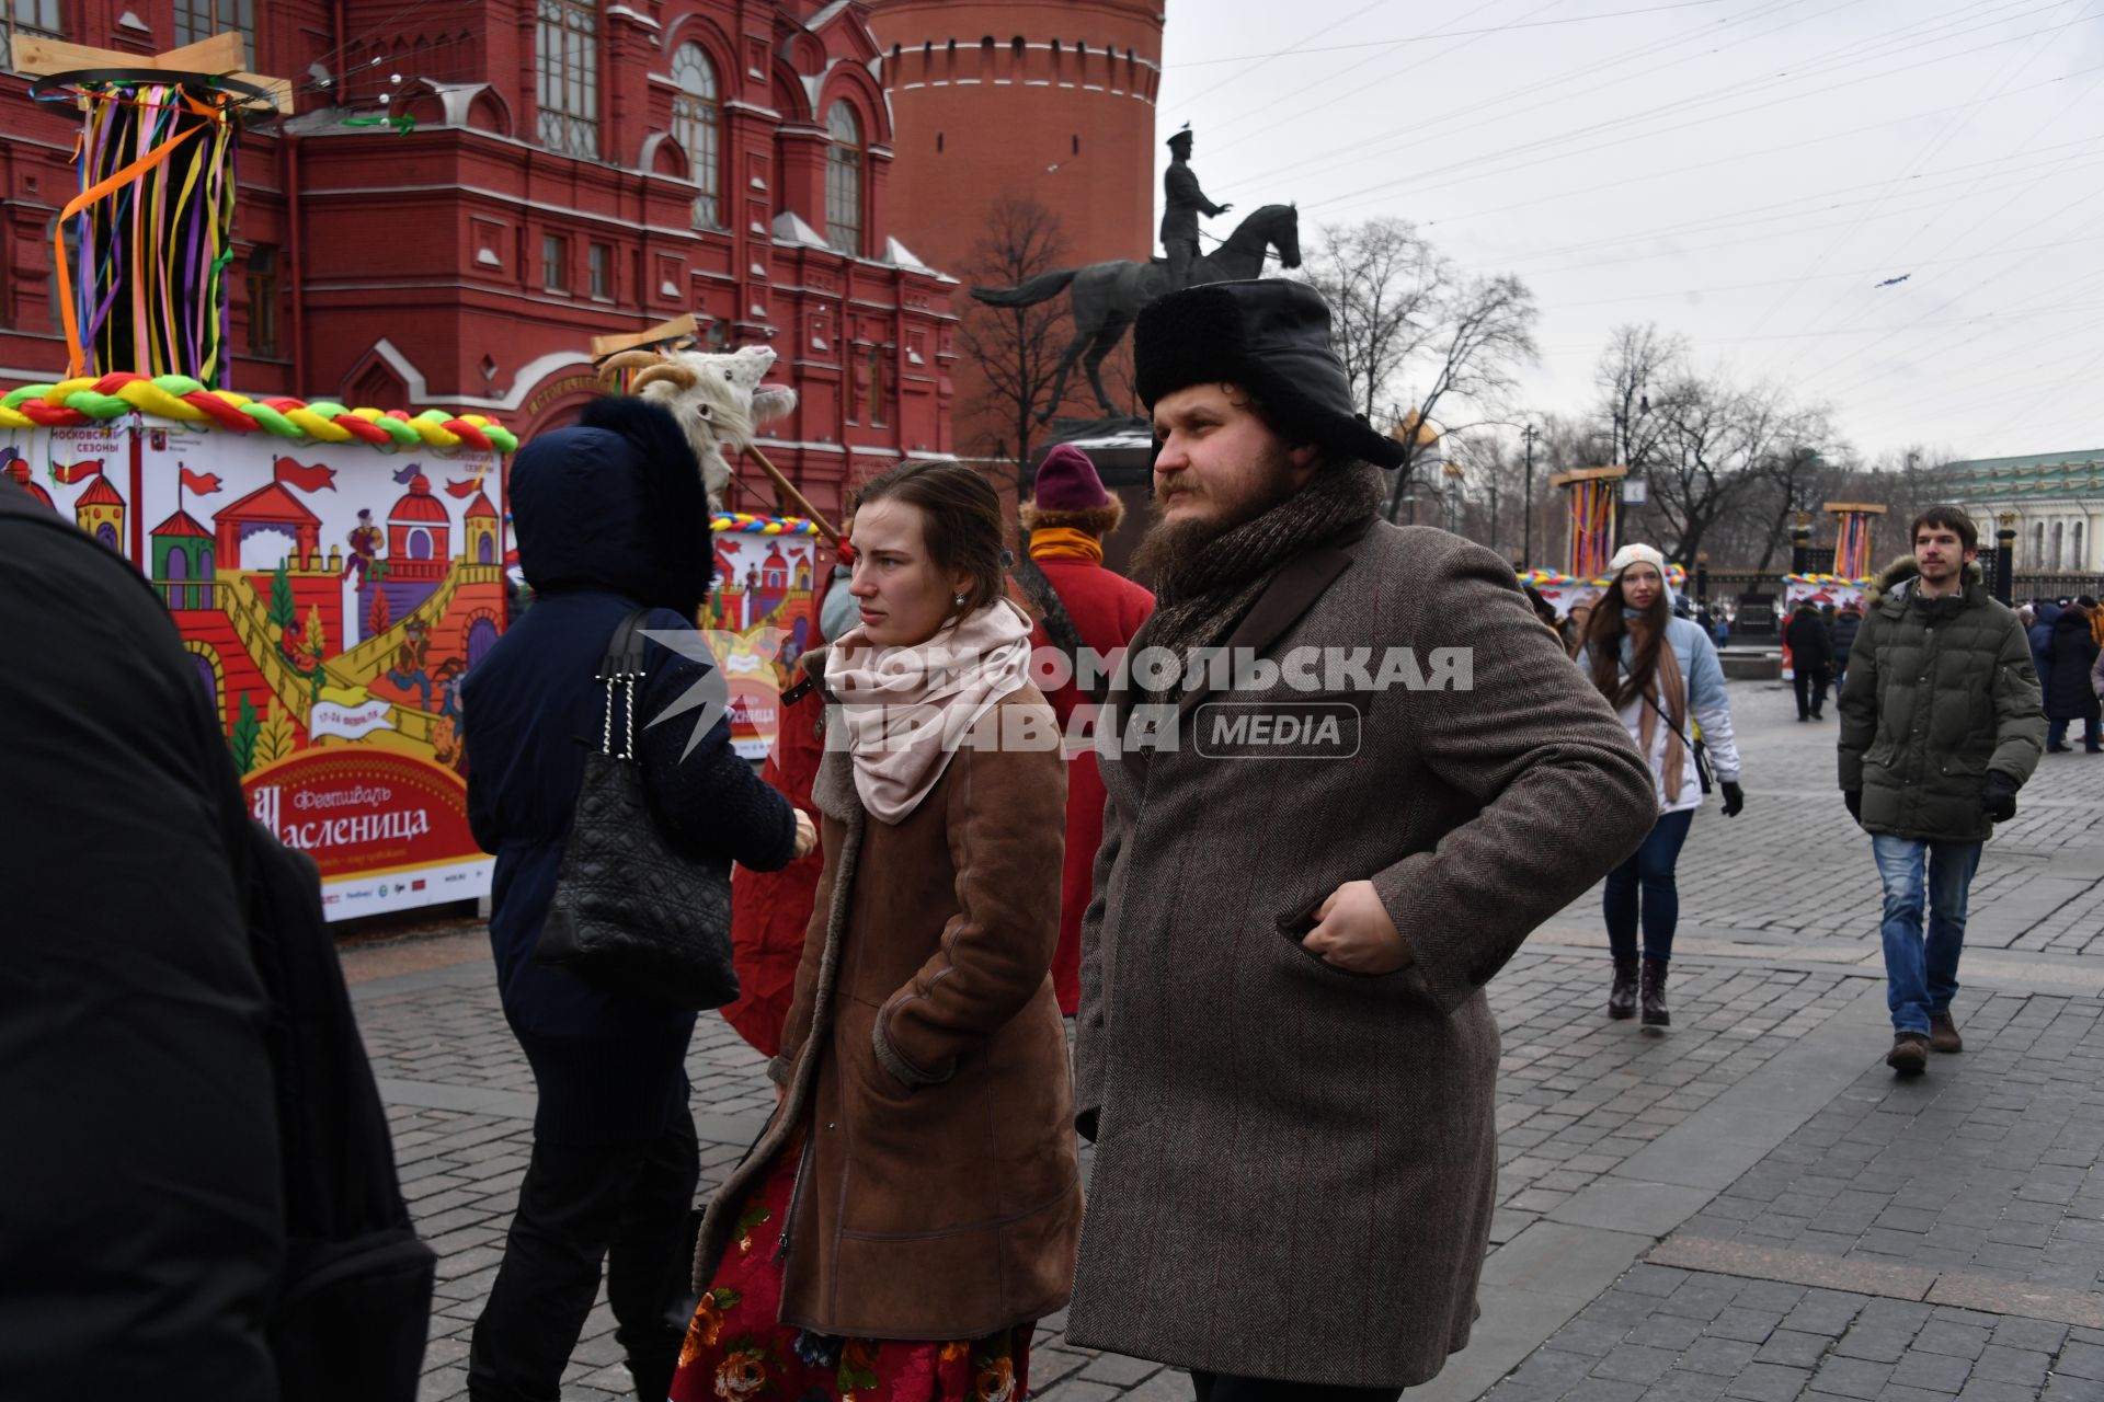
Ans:
{"label": "black fur hat on the bearded man's head", "polygon": [[1147,408],[1191,385],[1239,385],[1281,437],[1403,465],[1403,446],[1353,410],[1344,362],[1330,345],[1330,305],[1304,282],[1260,277],[1170,292],[1140,311],[1132,362]]}

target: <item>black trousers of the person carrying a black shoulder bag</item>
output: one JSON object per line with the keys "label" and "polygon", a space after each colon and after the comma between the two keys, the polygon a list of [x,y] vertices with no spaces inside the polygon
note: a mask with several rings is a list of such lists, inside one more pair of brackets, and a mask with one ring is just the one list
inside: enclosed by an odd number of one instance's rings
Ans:
{"label": "black trousers of the person carrying a black shoulder bag", "polygon": [[663,1402],[688,1320],[688,1209],[701,1177],[694,1118],[682,1110],[656,1139],[534,1141],[490,1299],[476,1320],[467,1396],[558,1402],[562,1370],[600,1293],[629,1356],[635,1391]]}

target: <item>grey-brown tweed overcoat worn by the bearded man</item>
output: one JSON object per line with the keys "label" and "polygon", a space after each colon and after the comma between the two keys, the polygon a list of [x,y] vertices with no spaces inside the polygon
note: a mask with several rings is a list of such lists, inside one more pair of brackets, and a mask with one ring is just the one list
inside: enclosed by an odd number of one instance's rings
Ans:
{"label": "grey-brown tweed overcoat worn by the bearded man", "polygon": [[[1229,645],[1372,645],[1376,664],[1464,647],[1473,685],[1374,694],[1353,759],[1206,759],[1185,736],[1102,765],[1077,1049],[1096,1167],[1069,1337],[1420,1383],[1469,1341],[1490,1238],[1483,984],[1643,841],[1652,774],[1511,565],[1445,532],[1376,523],[1294,557]],[[1250,698],[1187,698],[1199,725],[1203,700]],[[1344,973],[1279,929],[1363,879],[1414,950],[1397,973]]]}

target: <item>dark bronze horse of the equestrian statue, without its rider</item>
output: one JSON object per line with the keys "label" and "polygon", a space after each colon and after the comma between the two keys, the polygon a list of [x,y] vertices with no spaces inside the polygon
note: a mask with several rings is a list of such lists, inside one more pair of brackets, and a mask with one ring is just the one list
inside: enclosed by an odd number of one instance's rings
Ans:
{"label": "dark bronze horse of the equestrian statue, without its rider", "polygon": [[[1283,267],[1300,267],[1300,210],[1292,204],[1267,204],[1235,225],[1225,244],[1191,265],[1191,284],[1260,277],[1269,248],[1279,250]],[[989,307],[1035,307],[1058,296],[1069,284],[1073,284],[1073,341],[1060,355],[1052,404],[1037,422],[1052,418],[1052,410],[1065,399],[1067,374],[1077,359],[1088,368],[1096,404],[1107,416],[1117,414],[1111,395],[1102,393],[1102,362],[1140,315],[1140,307],[1170,290],[1168,259],[1151,263],[1113,259],[1088,267],[1063,267],[1037,273],[1016,288],[972,288],[972,296]]]}

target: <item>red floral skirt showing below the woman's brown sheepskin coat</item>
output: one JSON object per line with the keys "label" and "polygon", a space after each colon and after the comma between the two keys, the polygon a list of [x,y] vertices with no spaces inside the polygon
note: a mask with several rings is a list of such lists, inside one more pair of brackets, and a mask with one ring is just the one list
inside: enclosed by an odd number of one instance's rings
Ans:
{"label": "red floral skirt showing below the woman's brown sheepskin coat", "polygon": [[837,1339],[781,1324],[774,1259],[795,1188],[793,1139],[739,1219],[680,1347],[671,1402],[1023,1402],[1031,1324],[953,1343]]}

